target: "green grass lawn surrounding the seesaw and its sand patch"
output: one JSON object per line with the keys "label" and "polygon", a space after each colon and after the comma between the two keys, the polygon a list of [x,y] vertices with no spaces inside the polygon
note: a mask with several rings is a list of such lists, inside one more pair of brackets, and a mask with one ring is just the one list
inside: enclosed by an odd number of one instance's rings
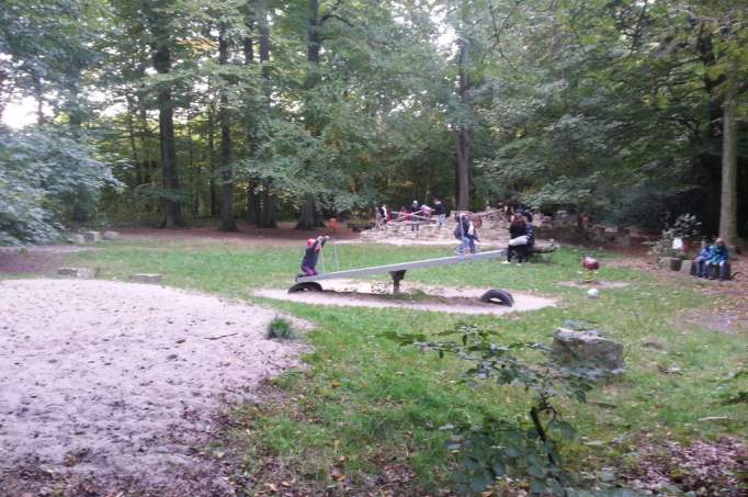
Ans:
{"label": "green grass lawn surrounding the seesaw and its sand patch", "polygon": [[[301,252],[217,241],[116,241],[70,257],[101,268],[99,278],[126,280],[135,272],[157,272],[167,285],[262,302],[316,324],[316,331],[305,337],[314,350],[304,358],[308,368],[276,379],[268,403],[234,411],[226,437],[216,441],[241,452],[249,493],[292,479],[290,485],[311,494],[331,485],[376,488],[382,482],[400,482],[399,495],[449,488],[454,462],[445,448],[447,436],[439,428],[477,420],[480,413],[524,416],[529,395],[491,384],[467,387],[458,383],[466,363],[400,348],[379,335],[430,334],[461,320],[497,329],[507,343],[549,344],[565,319],[583,319],[624,344],[627,373],[622,379],[597,387],[592,403],[562,405],[564,419],[580,434],[564,449],[571,468],[594,472],[631,460],[645,439],[746,439],[745,404],[719,403],[724,381],[746,369],[746,335],[718,334],[681,319],[684,310],[706,312],[715,298],[685,276],[661,279],[654,272],[610,268],[612,256],[599,253],[600,279],[631,284],[590,300],[583,290],[558,284],[580,279],[581,252],[563,249],[545,263],[485,261],[407,274],[431,284],[532,291],[560,302],[505,317],[321,307],[249,296],[254,287],[290,286]],[[330,270],[331,250],[326,255]],[[338,255],[340,269],[349,269],[443,257],[450,249],[339,245]],[[703,420],[710,417],[719,419]]]}

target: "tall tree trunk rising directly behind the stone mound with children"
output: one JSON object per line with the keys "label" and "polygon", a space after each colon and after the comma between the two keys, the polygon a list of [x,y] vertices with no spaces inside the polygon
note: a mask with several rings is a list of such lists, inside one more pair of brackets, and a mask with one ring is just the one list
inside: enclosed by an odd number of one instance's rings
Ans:
{"label": "tall tree trunk rising directly behind the stone mound with children", "polygon": [[457,168],[457,210],[467,211],[471,205],[471,144],[473,142],[473,125],[471,120],[471,78],[468,75],[471,43],[465,38],[457,41],[457,95],[463,116],[460,117],[453,131]]}

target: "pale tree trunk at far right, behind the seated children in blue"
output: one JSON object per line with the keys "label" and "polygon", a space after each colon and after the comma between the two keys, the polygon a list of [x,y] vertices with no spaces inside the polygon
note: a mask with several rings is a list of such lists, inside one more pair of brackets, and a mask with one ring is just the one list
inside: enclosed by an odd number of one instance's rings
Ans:
{"label": "pale tree trunk at far right, behind the seated children in blue", "polygon": [[738,240],[737,177],[738,127],[737,95],[728,91],[723,102],[722,117],[722,195],[719,203],[719,237],[735,250]]}

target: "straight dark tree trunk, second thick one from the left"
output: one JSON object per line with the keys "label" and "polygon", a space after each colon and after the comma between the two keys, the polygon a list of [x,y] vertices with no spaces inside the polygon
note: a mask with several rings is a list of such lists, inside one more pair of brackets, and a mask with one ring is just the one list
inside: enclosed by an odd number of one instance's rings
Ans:
{"label": "straight dark tree trunk, second thick one from the left", "polygon": [[[218,35],[218,64],[228,64],[228,42],[226,39],[226,25],[222,24]],[[227,81],[224,81],[224,86]],[[220,120],[220,230],[238,230],[234,215],[234,171],[231,170],[231,129],[228,112],[228,91],[220,90],[220,106],[218,110]]]}

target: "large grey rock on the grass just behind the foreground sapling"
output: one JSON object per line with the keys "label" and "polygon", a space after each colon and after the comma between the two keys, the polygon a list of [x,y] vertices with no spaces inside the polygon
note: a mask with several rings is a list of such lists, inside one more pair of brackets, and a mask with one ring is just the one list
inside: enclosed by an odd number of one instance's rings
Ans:
{"label": "large grey rock on the grass just behind the foreground sapling", "polygon": [[596,368],[603,375],[623,372],[623,346],[600,336],[597,330],[575,331],[558,328],[551,354],[565,366]]}

